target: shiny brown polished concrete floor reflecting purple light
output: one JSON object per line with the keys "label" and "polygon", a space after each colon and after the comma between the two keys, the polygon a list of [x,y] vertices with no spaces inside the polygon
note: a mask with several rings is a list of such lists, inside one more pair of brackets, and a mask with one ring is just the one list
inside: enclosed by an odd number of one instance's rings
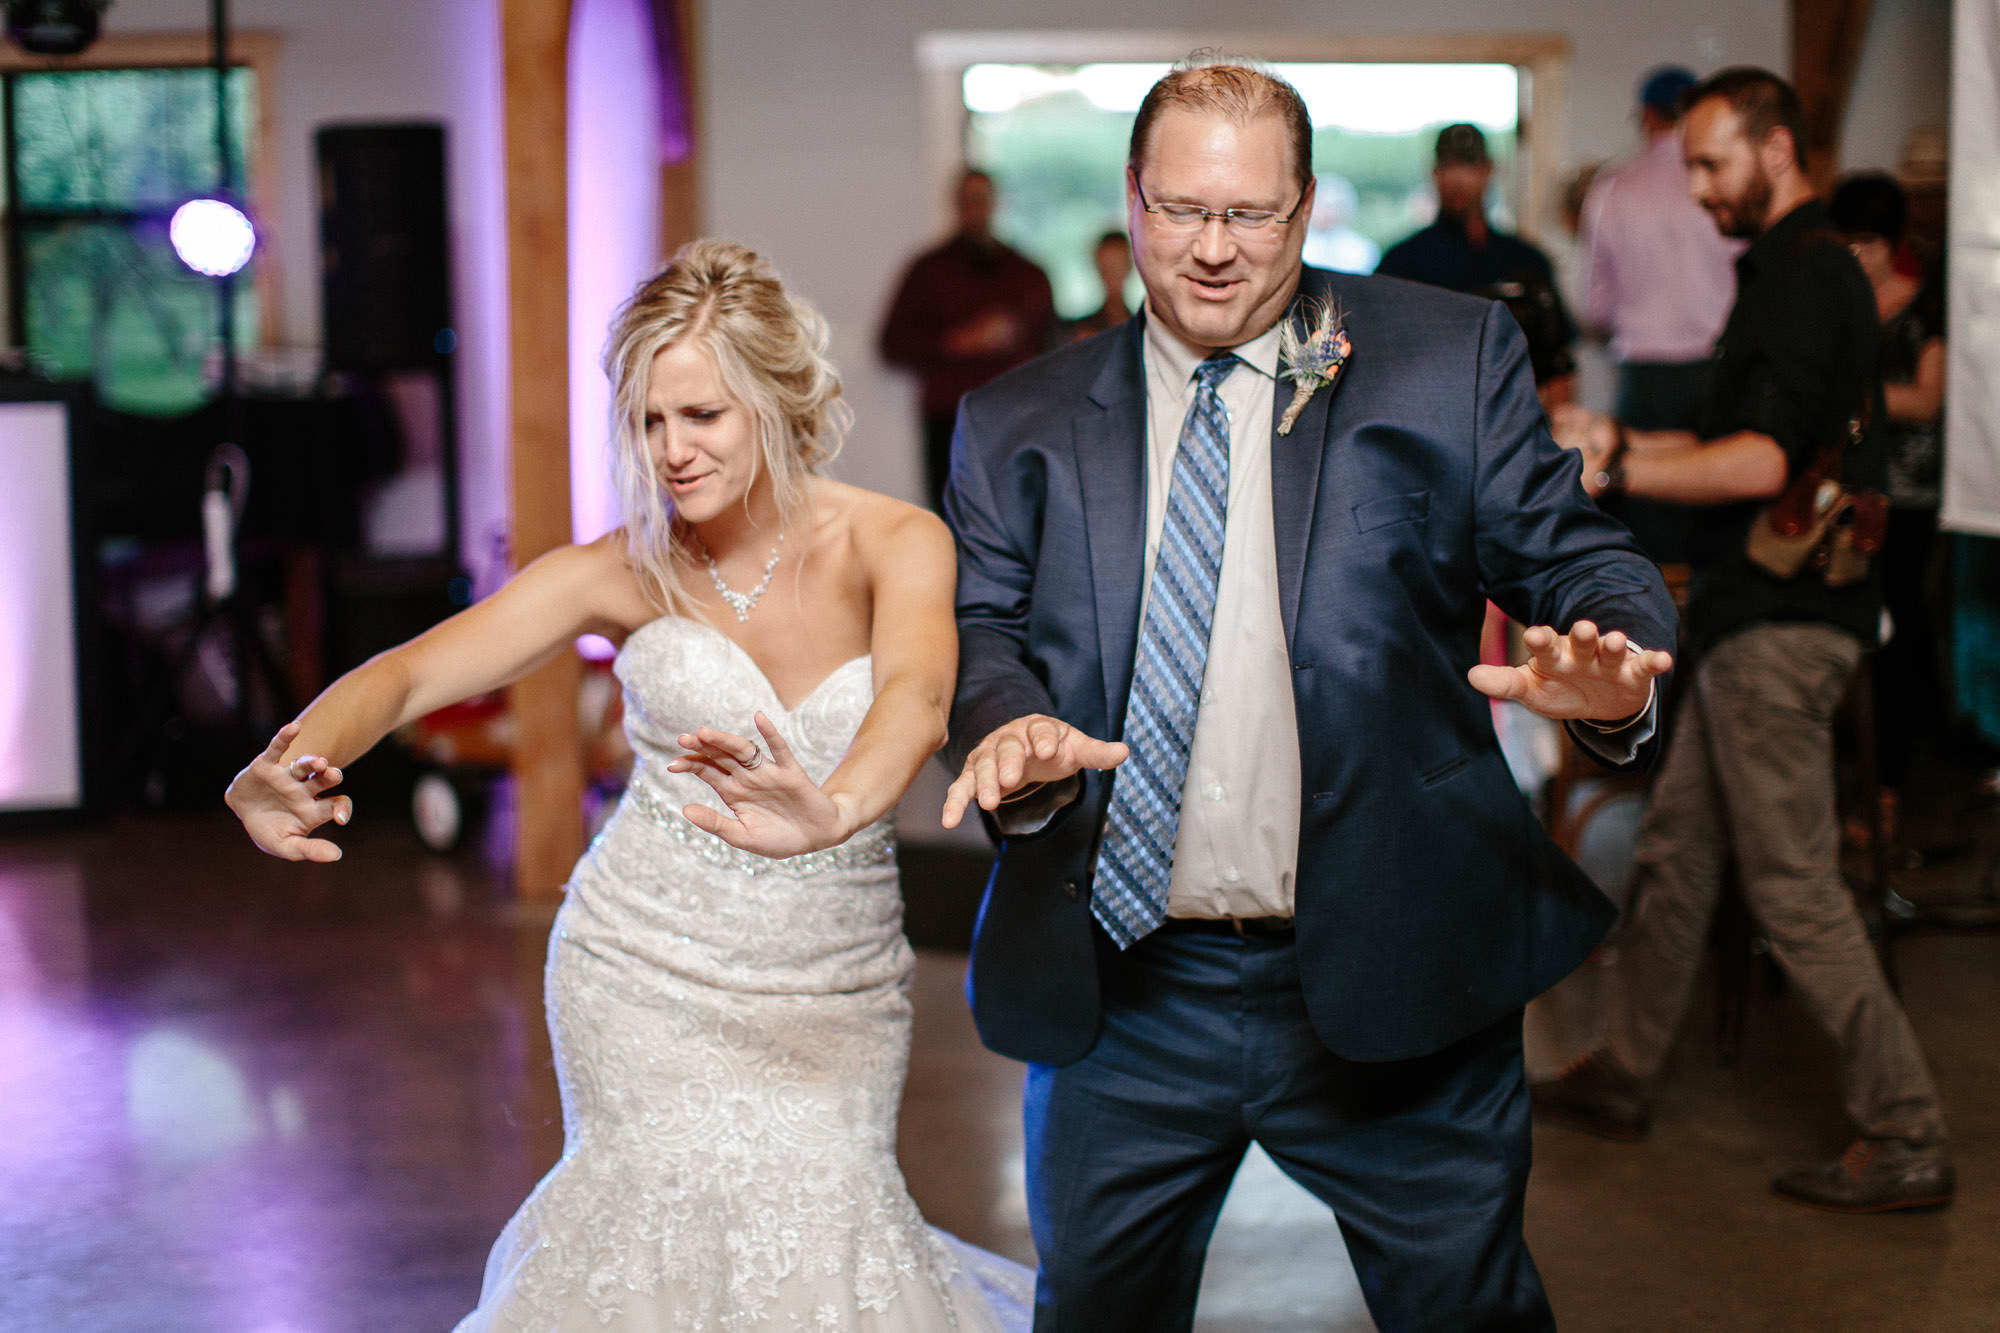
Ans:
{"label": "shiny brown polished concrete floor reflecting purple light", "polygon": [[[548,909],[390,823],[348,831],[338,867],[270,861],[226,817],[0,837],[0,1329],[424,1331],[470,1307],[560,1147]],[[1964,889],[1980,855],[1902,887]],[[954,893],[912,905],[920,935],[956,929]],[[1648,1143],[1536,1131],[1528,1229],[1564,1329],[2000,1329],[2000,935],[1894,949],[1958,1205],[1854,1219],[1768,1193],[1846,1135],[1824,1041],[1760,983],[1734,1069],[1694,1015]],[[904,1169],[936,1223],[1032,1259],[1020,1071],[974,1041],[962,963],[920,953]],[[1582,1039],[1588,989],[1542,1007],[1536,1061]],[[1332,1221],[1264,1161],[1224,1213],[1200,1327],[1372,1327]]]}

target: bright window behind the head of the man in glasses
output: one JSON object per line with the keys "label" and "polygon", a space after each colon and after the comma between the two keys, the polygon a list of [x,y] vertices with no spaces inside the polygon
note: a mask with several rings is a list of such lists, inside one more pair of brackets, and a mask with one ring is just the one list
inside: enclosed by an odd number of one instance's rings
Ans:
{"label": "bright window behind the head of the man in glasses", "polygon": [[[1050,276],[1068,318],[1102,300],[1092,246],[1124,228],[1124,164],[1156,62],[972,64],[962,76],[964,158],[1000,186],[996,232]],[[1306,262],[1372,272],[1382,250],[1430,222],[1438,130],[1478,124],[1494,158],[1488,216],[1514,226],[1522,72],[1512,64],[1278,64],[1312,114],[1318,202]],[[1134,290],[1128,292],[1136,300]]]}

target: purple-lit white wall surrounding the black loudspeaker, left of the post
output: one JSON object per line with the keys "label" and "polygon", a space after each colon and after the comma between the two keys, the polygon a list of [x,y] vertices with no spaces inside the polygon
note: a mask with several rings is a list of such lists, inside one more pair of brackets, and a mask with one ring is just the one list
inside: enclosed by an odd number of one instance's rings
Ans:
{"label": "purple-lit white wall surrounding the black loudspeaker, left of the post", "polygon": [[[498,0],[234,0],[236,28],[276,32],[278,216],[260,218],[280,276],[274,340],[320,342],[312,132],[330,120],[442,120],[458,330],[460,516],[484,572],[506,522],[506,182]],[[104,30],[208,30],[206,0],[118,0]],[[552,256],[560,262],[560,256]]]}

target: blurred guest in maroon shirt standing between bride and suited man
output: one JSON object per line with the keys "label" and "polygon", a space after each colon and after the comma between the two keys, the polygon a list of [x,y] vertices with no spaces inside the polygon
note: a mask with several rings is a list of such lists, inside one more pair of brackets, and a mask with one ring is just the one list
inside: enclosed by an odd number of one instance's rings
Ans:
{"label": "blurred guest in maroon shirt standing between bride and suited man", "polygon": [[922,392],[924,482],[944,494],[958,400],[1048,350],[1056,302],[1048,276],[994,236],[994,180],[968,170],[954,192],[958,228],[904,270],[882,322],[882,360],[914,370]]}

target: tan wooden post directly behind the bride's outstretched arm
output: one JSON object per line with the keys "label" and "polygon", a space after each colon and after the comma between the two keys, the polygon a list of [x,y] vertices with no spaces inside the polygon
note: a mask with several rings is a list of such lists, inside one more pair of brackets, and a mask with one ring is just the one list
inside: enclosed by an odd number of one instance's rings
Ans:
{"label": "tan wooden post directly behind the bride's outstretched arm", "polygon": [[[502,0],[514,566],[570,540],[570,0]],[[578,658],[514,685],[514,887],[556,897],[584,849]]]}

